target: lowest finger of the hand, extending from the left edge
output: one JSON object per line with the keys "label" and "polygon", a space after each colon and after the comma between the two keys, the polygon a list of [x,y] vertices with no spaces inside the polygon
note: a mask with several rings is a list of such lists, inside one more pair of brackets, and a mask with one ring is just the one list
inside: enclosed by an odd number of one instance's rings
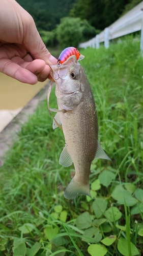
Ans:
{"label": "lowest finger of the hand, extending from the left edge", "polygon": [[24,83],[36,84],[38,81],[37,76],[31,71],[26,70],[12,60],[5,58],[0,60],[0,72]]}

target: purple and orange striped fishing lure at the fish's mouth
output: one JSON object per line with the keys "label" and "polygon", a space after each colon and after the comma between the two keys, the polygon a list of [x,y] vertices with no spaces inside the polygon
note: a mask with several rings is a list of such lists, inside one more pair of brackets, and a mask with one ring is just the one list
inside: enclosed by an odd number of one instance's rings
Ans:
{"label": "purple and orange striped fishing lure at the fish's mouth", "polygon": [[82,54],[79,53],[79,51],[75,47],[67,47],[64,49],[59,58],[58,58],[58,64],[62,64],[65,62],[70,56],[75,55],[76,60],[81,60],[84,58]]}

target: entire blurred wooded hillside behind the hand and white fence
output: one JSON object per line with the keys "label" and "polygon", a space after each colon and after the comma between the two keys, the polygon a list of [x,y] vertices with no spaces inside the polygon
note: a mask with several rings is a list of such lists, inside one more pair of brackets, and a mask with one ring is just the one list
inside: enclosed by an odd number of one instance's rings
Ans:
{"label": "entire blurred wooded hillside behind the hand and white fence", "polygon": [[77,47],[141,0],[17,0],[34,18],[46,47]]}

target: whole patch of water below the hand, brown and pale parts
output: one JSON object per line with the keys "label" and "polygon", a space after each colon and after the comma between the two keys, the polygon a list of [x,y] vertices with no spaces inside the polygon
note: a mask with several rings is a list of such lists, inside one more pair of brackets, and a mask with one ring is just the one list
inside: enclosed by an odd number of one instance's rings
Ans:
{"label": "whole patch of water below the hand, brown and pale parts", "polygon": [[0,72],[0,133],[47,82],[31,86]]}

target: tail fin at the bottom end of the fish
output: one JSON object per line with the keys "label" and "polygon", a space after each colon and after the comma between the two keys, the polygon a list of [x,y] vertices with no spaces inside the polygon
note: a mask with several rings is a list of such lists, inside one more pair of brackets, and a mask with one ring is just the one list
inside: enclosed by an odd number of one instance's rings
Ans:
{"label": "tail fin at the bottom end of the fish", "polygon": [[80,195],[87,195],[91,197],[90,184],[80,184],[73,178],[65,190],[64,197],[67,199],[74,199]]}

